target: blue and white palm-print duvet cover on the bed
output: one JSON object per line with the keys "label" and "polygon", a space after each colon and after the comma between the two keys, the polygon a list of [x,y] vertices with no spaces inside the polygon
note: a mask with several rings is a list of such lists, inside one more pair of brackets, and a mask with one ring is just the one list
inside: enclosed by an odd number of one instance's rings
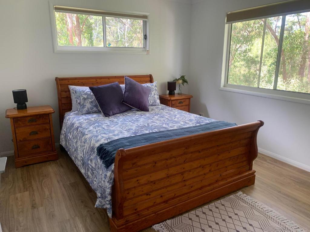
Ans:
{"label": "blue and white palm-print duvet cover on the bed", "polygon": [[216,120],[190,114],[165,105],[149,106],[149,112],[130,110],[111,117],[101,113],[65,115],[60,135],[60,144],[97,193],[95,207],[106,208],[112,217],[111,190],[114,179],[114,164],[105,168],[96,155],[96,148],[111,140],[197,126]]}

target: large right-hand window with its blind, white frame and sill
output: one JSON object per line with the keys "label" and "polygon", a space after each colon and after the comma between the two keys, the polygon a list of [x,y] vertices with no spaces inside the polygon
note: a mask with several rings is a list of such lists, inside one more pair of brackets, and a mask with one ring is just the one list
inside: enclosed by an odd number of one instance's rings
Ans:
{"label": "large right-hand window with its blind, white frame and sill", "polygon": [[228,12],[220,90],[310,104],[310,1]]}

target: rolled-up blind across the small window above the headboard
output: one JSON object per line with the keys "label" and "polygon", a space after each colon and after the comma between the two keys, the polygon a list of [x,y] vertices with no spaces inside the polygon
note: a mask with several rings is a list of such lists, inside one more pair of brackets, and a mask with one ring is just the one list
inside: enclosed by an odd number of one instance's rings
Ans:
{"label": "rolled-up blind across the small window above the headboard", "polygon": [[54,6],[54,10],[56,12],[64,12],[64,13],[70,12],[70,13],[85,14],[85,15],[100,15],[100,16],[114,17],[114,18],[148,20],[148,15],[129,14],[129,13],[120,13],[120,12],[112,12],[112,11],[99,11],[99,10],[73,8],[73,7],[66,7],[66,6]]}

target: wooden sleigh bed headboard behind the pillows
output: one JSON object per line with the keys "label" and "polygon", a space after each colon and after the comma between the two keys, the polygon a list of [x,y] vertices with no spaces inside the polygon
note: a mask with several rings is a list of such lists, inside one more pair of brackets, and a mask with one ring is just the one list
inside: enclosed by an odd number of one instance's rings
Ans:
{"label": "wooden sleigh bed headboard behind the pillows", "polygon": [[[149,75],[129,75],[128,77],[134,79],[140,84],[153,83],[153,76]],[[76,86],[97,86],[118,82],[124,84],[124,76],[91,76],[91,77],[56,77],[57,95],[58,95],[58,109],[59,109],[59,123],[60,128],[64,121],[64,114],[71,111],[71,96],[68,85]]]}

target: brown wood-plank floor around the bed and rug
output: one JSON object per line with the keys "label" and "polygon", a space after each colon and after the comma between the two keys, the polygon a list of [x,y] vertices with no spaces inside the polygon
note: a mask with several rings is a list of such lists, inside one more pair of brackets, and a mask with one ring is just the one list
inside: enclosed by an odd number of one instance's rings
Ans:
{"label": "brown wood-plank floor around the bed and rug", "polygon": [[[310,173],[259,154],[256,183],[241,191],[310,231]],[[109,231],[105,209],[70,157],[15,169],[1,178],[0,222],[6,231]],[[154,231],[148,228],[144,231]]]}

